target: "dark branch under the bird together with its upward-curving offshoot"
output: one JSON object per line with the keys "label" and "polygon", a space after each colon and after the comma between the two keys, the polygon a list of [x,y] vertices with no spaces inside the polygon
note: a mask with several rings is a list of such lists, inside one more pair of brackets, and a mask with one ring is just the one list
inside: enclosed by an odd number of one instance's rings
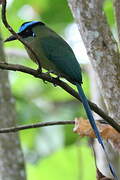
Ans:
{"label": "dark branch under the bird together with its upward-curving offshoot", "polygon": [[[29,45],[26,42],[24,42],[21,39],[21,37],[18,36],[18,34],[8,24],[7,18],[6,18],[6,0],[4,0],[3,3],[2,3],[2,21],[3,21],[4,25],[5,25],[5,27],[33,53],[33,55],[37,59],[37,62],[40,62],[39,58],[36,56],[35,52],[31,49],[31,47],[29,47]],[[25,66],[21,66],[21,65],[12,65],[12,64],[7,64],[7,63],[1,63],[0,68],[1,69],[12,70],[12,71],[20,71],[20,72],[24,72],[24,73],[27,73],[27,74],[31,74],[36,78],[39,78],[39,79],[42,79],[44,81],[48,81],[48,82],[51,82],[51,83],[53,83],[55,85],[60,86],[66,92],[68,92],[69,94],[71,94],[72,96],[74,96],[75,98],[80,100],[78,93],[76,91],[74,91],[70,86],[68,86],[65,82],[59,80],[58,78],[51,77],[51,76],[49,76],[49,75],[47,75],[45,73],[40,73],[37,70],[31,69],[31,68],[28,68],[28,67],[25,67]],[[112,127],[114,127],[118,132],[120,132],[120,126],[111,117],[107,116],[100,108],[97,107],[96,104],[94,104],[94,103],[92,103],[90,101],[89,101],[89,104],[90,104],[91,109],[94,112],[99,114]]]}

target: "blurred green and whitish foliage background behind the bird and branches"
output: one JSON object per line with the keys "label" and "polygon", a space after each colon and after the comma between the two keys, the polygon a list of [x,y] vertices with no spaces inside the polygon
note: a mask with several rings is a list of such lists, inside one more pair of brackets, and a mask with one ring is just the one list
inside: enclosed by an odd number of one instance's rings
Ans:
{"label": "blurred green and whitish foliage background behind the bird and branches", "polygon": [[[7,16],[16,31],[21,23],[31,20],[29,16],[20,16],[23,7],[27,7],[24,11],[25,14],[28,11],[29,15],[32,7],[34,19],[41,19],[63,35],[66,26],[73,22],[66,0],[13,0],[7,9]],[[113,28],[115,21],[112,1],[105,1],[104,11]],[[3,36],[8,36],[2,24],[1,29],[4,29]],[[16,47],[23,48],[17,41],[8,43],[6,47],[13,50]],[[15,63],[18,63],[18,59],[19,63],[36,68],[34,63],[24,58],[17,58]],[[83,78],[85,93],[90,97],[86,72]],[[86,117],[82,105],[59,87],[18,72],[11,72],[10,80],[16,99],[18,124]],[[95,180],[95,165],[87,140],[79,141],[78,135],[73,133],[72,125],[26,130],[20,132],[20,138],[28,180]]]}

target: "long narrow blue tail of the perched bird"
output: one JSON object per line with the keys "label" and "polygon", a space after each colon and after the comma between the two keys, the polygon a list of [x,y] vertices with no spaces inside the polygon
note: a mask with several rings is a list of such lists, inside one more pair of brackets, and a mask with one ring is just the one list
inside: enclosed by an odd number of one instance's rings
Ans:
{"label": "long narrow blue tail of the perched bird", "polygon": [[106,159],[108,161],[110,171],[111,171],[113,177],[115,178],[115,180],[118,180],[117,175],[115,173],[115,170],[113,169],[112,165],[109,163],[109,159],[108,159],[108,156],[107,156],[107,152],[106,152],[105,146],[103,144],[102,137],[100,136],[99,130],[98,130],[97,126],[96,126],[95,120],[93,118],[93,115],[92,115],[90,106],[88,104],[88,100],[87,100],[87,98],[86,98],[86,96],[84,94],[84,91],[83,91],[83,89],[82,89],[80,84],[76,83],[76,86],[77,86],[77,89],[78,89],[78,92],[79,92],[80,99],[82,100],[83,106],[85,108],[87,117],[89,119],[89,122],[90,122],[90,124],[91,124],[91,126],[92,126],[92,128],[94,130],[94,133],[95,133],[99,143],[101,144],[101,146],[102,146],[102,148],[103,148],[103,150],[105,152]]}

